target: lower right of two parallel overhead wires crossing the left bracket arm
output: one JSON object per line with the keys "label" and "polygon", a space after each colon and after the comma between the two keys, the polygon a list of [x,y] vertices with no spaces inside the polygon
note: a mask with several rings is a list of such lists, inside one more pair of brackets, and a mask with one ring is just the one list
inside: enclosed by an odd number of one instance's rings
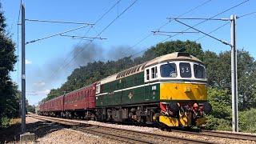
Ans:
{"label": "lower right of two parallel overhead wires crossing the left bracket arm", "polygon": [[[122,13],[119,14],[119,16],[118,16],[117,18],[114,18],[114,20],[113,20],[112,22],[110,22],[110,24],[109,24],[108,26],[106,26],[96,37],[98,37],[100,34],[102,34],[102,33],[103,33],[109,26],[111,26],[122,14],[124,14],[127,10],[129,10],[130,7],[133,6],[135,2],[138,2],[138,0],[135,0],[133,3],[130,4],[130,6],[128,6],[128,7],[126,8],[126,10],[123,10]],[[96,22],[95,22],[95,23],[96,23]],[[81,54],[81,52],[82,52],[83,50],[85,50],[85,49],[87,48],[87,46],[89,46],[90,43],[92,43],[93,41],[94,41],[94,39],[93,39],[91,42],[89,42],[85,47],[83,47],[82,50],[78,51],[78,54]],[[76,57],[78,56],[78,54],[75,54],[75,55],[74,55],[74,58],[76,58]],[[70,62],[72,62],[72,61],[74,60],[74,58],[72,58],[72,59],[70,60]],[[70,64],[70,62],[66,63],[66,65],[63,66],[62,69],[59,70],[59,72],[54,75],[54,77],[56,77],[59,73],[61,73],[62,70],[64,70],[64,68]]]}

